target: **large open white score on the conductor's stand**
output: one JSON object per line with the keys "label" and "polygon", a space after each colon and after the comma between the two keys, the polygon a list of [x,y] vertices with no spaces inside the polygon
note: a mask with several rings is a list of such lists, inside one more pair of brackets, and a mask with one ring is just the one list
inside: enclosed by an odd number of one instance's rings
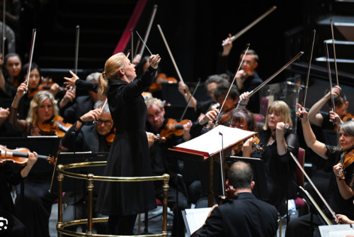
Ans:
{"label": "large open white score on the conductor's stand", "polygon": [[[219,133],[222,133],[222,136],[219,135]],[[176,145],[176,148],[202,151],[211,155],[222,150],[222,148],[227,148],[255,134],[256,133],[252,131],[244,131],[239,128],[230,128],[219,125],[207,133],[198,136],[198,138]]]}

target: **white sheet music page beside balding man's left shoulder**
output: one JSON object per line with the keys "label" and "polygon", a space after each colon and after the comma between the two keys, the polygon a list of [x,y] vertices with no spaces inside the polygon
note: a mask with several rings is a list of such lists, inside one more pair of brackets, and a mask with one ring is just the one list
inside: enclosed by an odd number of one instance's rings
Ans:
{"label": "white sheet music page beside balding man's left shoulder", "polygon": [[200,227],[202,227],[202,224],[204,224],[211,209],[211,207],[185,209],[185,218],[188,221],[190,234],[194,233]]}

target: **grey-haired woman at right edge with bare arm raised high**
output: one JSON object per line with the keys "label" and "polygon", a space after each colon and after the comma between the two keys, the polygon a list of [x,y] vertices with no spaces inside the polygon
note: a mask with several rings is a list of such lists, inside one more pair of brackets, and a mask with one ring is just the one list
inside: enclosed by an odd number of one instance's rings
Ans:
{"label": "grey-haired woman at right edge with bare arm raised high", "polygon": [[[300,107],[299,104],[297,106]],[[308,113],[304,108],[298,109],[297,116],[301,114],[303,116],[302,130],[304,131],[304,139],[307,146],[333,165],[333,173],[327,186],[329,195],[326,197],[326,200],[335,213],[346,215],[349,219],[354,219],[354,191],[350,188],[353,186],[354,165],[353,163],[349,164],[346,162],[353,155],[354,121],[347,121],[338,126],[338,145],[332,146],[316,140],[316,136],[314,136],[309,123]],[[335,223],[333,213],[325,209],[324,214]],[[324,224],[324,221],[314,214],[312,226],[317,227]],[[308,236],[310,225],[310,214],[300,216],[298,219],[290,221],[287,226],[287,236]],[[318,228],[315,228],[314,236],[320,236]]]}

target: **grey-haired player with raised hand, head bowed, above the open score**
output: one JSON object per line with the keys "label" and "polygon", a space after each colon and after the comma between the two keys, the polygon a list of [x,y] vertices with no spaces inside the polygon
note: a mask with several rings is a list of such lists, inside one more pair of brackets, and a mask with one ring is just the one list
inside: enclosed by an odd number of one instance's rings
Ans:
{"label": "grey-haired player with raised hand, head bowed, above the open score", "polygon": [[[183,94],[185,101],[190,100],[190,106],[194,107],[195,114],[198,116],[200,114],[207,114],[207,111],[210,111],[212,105],[217,104],[217,101],[214,97],[214,90],[217,88],[217,85],[220,83],[227,83],[229,80],[223,77],[223,75],[211,75],[207,77],[207,80],[204,82],[205,89],[207,94],[211,97],[207,101],[197,101],[189,91],[189,88],[183,82],[178,82],[178,92]],[[190,99],[190,97],[192,97]]]}

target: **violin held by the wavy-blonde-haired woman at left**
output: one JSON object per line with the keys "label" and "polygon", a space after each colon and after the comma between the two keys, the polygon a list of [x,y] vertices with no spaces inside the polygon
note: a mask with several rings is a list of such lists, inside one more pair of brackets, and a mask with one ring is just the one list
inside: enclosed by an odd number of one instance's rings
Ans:
{"label": "violin held by the wavy-blonde-haired woman at left", "polygon": [[58,136],[59,138],[63,138],[71,126],[71,123],[64,123],[64,118],[57,115],[40,125],[39,128],[44,136]]}

